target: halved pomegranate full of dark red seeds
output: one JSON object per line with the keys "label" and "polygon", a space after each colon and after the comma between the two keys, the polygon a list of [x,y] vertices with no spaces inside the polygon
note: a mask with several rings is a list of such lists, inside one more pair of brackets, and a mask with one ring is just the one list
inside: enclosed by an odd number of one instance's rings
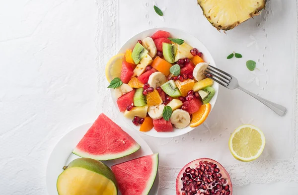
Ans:
{"label": "halved pomegranate full of dark red seeds", "polygon": [[219,162],[200,158],[188,163],[179,172],[176,195],[232,195],[232,183]]}

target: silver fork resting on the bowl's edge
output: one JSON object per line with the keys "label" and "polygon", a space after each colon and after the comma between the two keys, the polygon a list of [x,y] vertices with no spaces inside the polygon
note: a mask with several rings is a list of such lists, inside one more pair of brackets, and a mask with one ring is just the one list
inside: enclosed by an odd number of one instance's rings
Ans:
{"label": "silver fork resting on the bowl's edge", "polygon": [[[228,89],[238,88],[241,91],[244,91],[248,95],[251,95],[255,99],[257,99],[260,102],[262,102],[263,104],[265,104],[268,108],[273,110],[279,116],[283,117],[287,113],[287,109],[285,107],[283,107],[279,104],[270,102],[270,101],[268,101],[264,98],[261,98],[261,97],[257,96],[256,94],[253,94],[250,91],[247,91],[246,89],[242,88],[241,86],[239,86],[237,78],[235,78],[234,76],[224,72],[223,70],[221,70],[219,68],[216,68],[212,65],[209,65],[209,67],[207,67],[207,70],[205,70],[204,74],[207,77],[211,78],[215,82],[218,82],[219,84],[223,85],[224,87],[226,87]],[[210,75],[212,75],[212,76],[210,76]]]}

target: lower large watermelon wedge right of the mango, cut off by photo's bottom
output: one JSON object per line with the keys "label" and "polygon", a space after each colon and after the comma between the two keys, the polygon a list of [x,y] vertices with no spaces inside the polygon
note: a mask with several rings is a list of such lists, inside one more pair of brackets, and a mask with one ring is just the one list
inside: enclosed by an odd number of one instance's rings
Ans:
{"label": "lower large watermelon wedge right of the mango, cut off by photo's bottom", "polygon": [[122,195],[148,195],[158,168],[158,154],[136,158],[111,167]]}

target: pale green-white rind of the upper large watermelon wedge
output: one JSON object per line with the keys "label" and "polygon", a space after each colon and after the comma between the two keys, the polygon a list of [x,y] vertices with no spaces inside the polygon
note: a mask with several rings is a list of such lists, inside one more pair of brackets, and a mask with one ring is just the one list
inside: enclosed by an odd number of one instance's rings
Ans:
{"label": "pale green-white rind of the upper large watermelon wedge", "polygon": [[73,153],[77,156],[83,157],[83,158],[92,158],[94,160],[113,160],[113,159],[117,159],[117,158],[122,158],[124,156],[130,155],[134,152],[136,152],[137,150],[140,149],[140,145],[138,143],[136,143],[135,145],[133,145],[131,148],[129,148],[128,150],[119,152],[117,154],[101,154],[101,155],[94,155],[94,154],[90,154],[87,152],[84,152],[78,148],[74,148]]}

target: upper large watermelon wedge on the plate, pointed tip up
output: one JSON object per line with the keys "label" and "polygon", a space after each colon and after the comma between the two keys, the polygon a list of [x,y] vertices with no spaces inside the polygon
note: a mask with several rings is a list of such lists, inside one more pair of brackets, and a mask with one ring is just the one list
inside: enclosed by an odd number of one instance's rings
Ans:
{"label": "upper large watermelon wedge on the plate, pointed tip up", "polygon": [[140,145],[103,113],[74,148],[73,153],[94,160],[121,158],[140,149]]}

